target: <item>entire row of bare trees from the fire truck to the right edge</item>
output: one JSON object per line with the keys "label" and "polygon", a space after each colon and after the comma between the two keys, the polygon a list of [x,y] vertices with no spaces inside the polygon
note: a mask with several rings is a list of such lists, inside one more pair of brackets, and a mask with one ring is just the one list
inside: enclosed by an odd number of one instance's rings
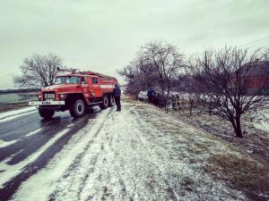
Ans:
{"label": "entire row of bare trees from the fire truck to the right edge", "polygon": [[[141,46],[118,73],[127,82],[126,93],[137,96],[152,87],[166,99],[171,90],[184,94],[191,109],[195,104],[230,121],[238,138],[243,138],[242,115],[268,106],[269,48],[249,51],[225,46],[187,58],[177,46],[155,40]],[[249,90],[250,78],[259,73],[263,76]]]}

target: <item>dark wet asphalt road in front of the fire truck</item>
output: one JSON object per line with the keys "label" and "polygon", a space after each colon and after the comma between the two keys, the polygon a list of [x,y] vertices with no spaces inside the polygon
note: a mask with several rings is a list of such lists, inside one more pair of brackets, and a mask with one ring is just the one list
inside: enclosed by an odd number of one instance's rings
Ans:
{"label": "dark wet asphalt road in front of the fire truck", "polygon": [[[35,112],[19,116],[11,121],[0,122],[0,140],[4,142],[16,140],[7,147],[0,147],[0,163],[5,162],[10,165],[22,162],[57,133],[66,130],[66,128],[69,129],[34,162],[23,168],[23,172],[4,183],[2,188],[0,187],[0,200],[11,198],[24,180],[44,167],[78,130],[81,130],[96,117],[97,113],[100,113],[100,110],[96,109],[78,119],[72,118],[68,112],[56,113],[52,120],[45,121],[39,117],[39,113]],[[36,133],[30,135],[31,132]],[[4,170],[0,170],[0,172],[4,172]]]}

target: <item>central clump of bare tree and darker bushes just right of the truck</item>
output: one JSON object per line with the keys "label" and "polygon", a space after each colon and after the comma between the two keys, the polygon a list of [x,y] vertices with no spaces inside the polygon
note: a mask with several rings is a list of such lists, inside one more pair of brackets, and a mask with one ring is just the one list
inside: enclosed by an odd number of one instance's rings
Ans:
{"label": "central clump of bare tree and darker bushes just right of the truck", "polygon": [[169,97],[173,80],[184,66],[183,54],[176,46],[154,41],[142,46],[133,62],[118,73],[127,81],[126,91],[137,94],[149,87],[161,88],[161,98]]}

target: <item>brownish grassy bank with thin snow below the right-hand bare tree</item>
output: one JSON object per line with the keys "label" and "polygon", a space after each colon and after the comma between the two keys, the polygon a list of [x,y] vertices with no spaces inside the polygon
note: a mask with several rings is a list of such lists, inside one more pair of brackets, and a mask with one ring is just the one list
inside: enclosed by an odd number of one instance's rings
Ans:
{"label": "brownish grassy bank with thin snow below the right-hand bare tree", "polygon": [[[148,107],[149,105],[144,105],[142,109],[146,111]],[[269,200],[268,133],[244,123],[246,138],[235,138],[230,122],[222,121],[215,116],[203,113],[190,116],[185,109],[169,111],[168,114],[183,121],[186,126],[191,125],[198,130],[197,133],[190,134],[181,132],[180,136],[184,138],[176,139],[181,145],[182,155],[186,154],[184,158],[188,157],[190,164],[204,169],[216,183],[221,181],[230,188],[241,191],[249,200]],[[161,114],[147,113],[145,119],[156,119],[156,116]],[[166,126],[162,124],[169,125],[169,128],[165,129]],[[161,118],[161,121],[156,120],[154,126],[164,132],[177,134],[174,123],[167,122],[165,118]],[[199,130],[210,140],[195,140],[200,136]],[[225,144],[227,150],[218,149],[217,142]],[[184,144],[187,144],[187,147],[182,146]]]}

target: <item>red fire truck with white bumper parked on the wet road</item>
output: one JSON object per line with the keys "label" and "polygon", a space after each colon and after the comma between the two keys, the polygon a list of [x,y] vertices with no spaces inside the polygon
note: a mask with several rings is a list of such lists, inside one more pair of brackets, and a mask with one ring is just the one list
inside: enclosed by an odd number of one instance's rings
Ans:
{"label": "red fire truck with white bumper parked on the wet road", "polygon": [[117,79],[93,71],[58,69],[55,84],[42,88],[37,105],[39,115],[50,119],[55,112],[69,110],[71,116],[81,117],[94,105],[101,109],[114,106],[112,96]]}

